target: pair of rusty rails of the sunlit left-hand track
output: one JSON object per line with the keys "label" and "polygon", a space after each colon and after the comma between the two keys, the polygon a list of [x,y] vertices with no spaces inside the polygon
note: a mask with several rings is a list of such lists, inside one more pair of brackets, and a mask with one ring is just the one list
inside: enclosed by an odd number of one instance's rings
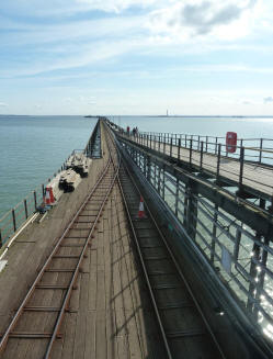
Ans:
{"label": "pair of rusty rails of the sunlit left-hand track", "polygon": [[[0,341],[0,354],[3,352],[5,346],[7,346],[7,343],[9,340],[9,337],[13,330],[13,328],[15,327],[19,318],[21,317],[23,311],[24,311],[24,307],[26,306],[29,300],[31,299],[34,290],[35,290],[35,287],[37,285],[37,283],[41,281],[43,274],[45,273],[50,260],[53,259],[53,257],[55,256],[55,254],[57,253],[57,250],[60,248],[60,244],[62,242],[62,239],[66,237],[67,233],[71,229],[72,225],[75,224],[76,220],[78,218],[79,214],[81,213],[81,211],[84,209],[86,204],[89,202],[89,200],[91,199],[91,197],[93,195],[93,193],[95,192],[95,190],[98,189],[99,184],[102,183],[103,179],[105,178],[105,176],[107,175],[109,170],[110,170],[110,167],[111,167],[111,162],[112,162],[112,155],[111,155],[111,152],[110,152],[110,158],[107,160],[107,164],[106,166],[104,167],[101,176],[99,177],[98,181],[95,182],[93,189],[91,190],[91,192],[88,194],[88,197],[83,200],[82,204],[80,205],[79,210],[76,212],[76,214],[73,215],[72,220],[69,222],[67,228],[64,231],[62,235],[60,236],[60,238],[57,240],[57,243],[55,244],[54,248],[53,248],[53,251],[50,253],[49,257],[47,258],[46,262],[44,263],[44,266],[42,267],[42,269],[39,270],[36,279],[34,280],[33,284],[31,285],[30,290],[27,291],[26,295],[24,296],[20,307],[18,308],[14,317],[12,318],[11,323],[9,324],[8,328],[5,329],[4,334],[2,335],[2,338],[1,338],[1,341]],[[50,355],[50,350],[52,350],[52,347],[53,347],[53,343],[55,341],[56,337],[58,336],[58,329],[59,329],[59,326],[61,324],[61,321],[62,321],[62,316],[64,316],[64,313],[65,313],[65,310],[67,307],[67,304],[69,302],[69,299],[70,299],[70,295],[71,295],[71,290],[72,290],[72,287],[73,287],[73,283],[78,277],[78,273],[79,273],[79,269],[80,269],[80,263],[84,257],[84,253],[87,250],[87,247],[88,247],[88,244],[92,237],[92,234],[93,234],[93,231],[95,228],[95,224],[98,223],[99,221],[99,217],[102,213],[102,210],[103,210],[103,206],[111,193],[111,190],[113,189],[113,186],[114,186],[114,182],[115,182],[115,179],[116,179],[116,176],[117,176],[117,172],[118,172],[118,168],[116,169],[115,171],[115,175],[113,177],[113,180],[111,181],[111,184],[109,187],[109,190],[106,191],[106,194],[104,197],[104,200],[99,209],[99,213],[96,215],[96,218],[92,225],[92,227],[90,228],[90,232],[88,234],[88,237],[86,239],[86,244],[84,244],[84,247],[81,251],[81,255],[79,257],[79,261],[78,261],[78,265],[77,267],[75,268],[75,272],[73,272],[73,276],[70,280],[70,284],[69,284],[69,288],[67,289],[67,293],[65,295],[65,299],[64,299],[64,302],[62,302],[62,305],[61,305],[61,310],[60,310],[60,313],[56,319],[56,324],[55,324],[55,327],[54,327],[54,332],[53,332],[53,336],[52,336],[52,339],[48,344],[48,347],[47,347],[47,351],[46,351],[46,356],[45,358],[49,358],[49,355]]]}

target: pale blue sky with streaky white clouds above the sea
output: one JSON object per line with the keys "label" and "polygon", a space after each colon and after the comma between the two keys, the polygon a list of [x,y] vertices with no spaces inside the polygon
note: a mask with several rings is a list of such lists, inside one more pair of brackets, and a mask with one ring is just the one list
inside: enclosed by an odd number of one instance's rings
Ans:
{"label": "pale blue sky with streaky white clouds above the sea", "polygon": [[8,0],[0,114],[273,115],[271,0]]}

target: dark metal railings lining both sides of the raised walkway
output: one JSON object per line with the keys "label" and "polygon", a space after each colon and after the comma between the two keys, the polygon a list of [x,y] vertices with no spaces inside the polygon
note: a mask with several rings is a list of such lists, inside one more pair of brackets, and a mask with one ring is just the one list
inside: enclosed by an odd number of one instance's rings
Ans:
{"label": "dark metal railings lining both sides of the raised walkway", "polygon": [[[116,128],[115,128],[116,130]],[[118,135],[136,142],[138,145],[153,149],[166,156],[178,158],[196,171],[213,173],[217,180],[224,179],[235,183],[239,190],[244,187],[252,191],[259,191],[264,198],[271,200],[273,194],[273,147],[234,146],[236,152],[226,152],[226,144],[219,143],[219,138],[214,137],[214,142],[202,141],[202,136],[195,139],[194,135],[175,135],[159,133],[125,133],[118,128]],[[247,142],[255,139],[244,139]],[[258,139],[257,139],[258,141]],[[260,144],[265,141],[259,139]],[[239,143],[243,143],[242,139]],[[266,154],[266,156],[264,155]]]}

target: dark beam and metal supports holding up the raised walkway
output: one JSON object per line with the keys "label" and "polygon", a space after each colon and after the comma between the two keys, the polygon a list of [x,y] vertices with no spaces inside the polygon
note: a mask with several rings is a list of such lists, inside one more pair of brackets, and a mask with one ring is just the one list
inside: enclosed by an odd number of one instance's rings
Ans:
{"label": "dark beam and metal supports holding up the raised walkway", "polygon": [[[244,304],[250,321],[258,324],[259,314],[259,325],[273,325],[273,315],[266,307],[270,305],[273,310],[269,291],[269,285],[273,287],[273,273],[269,269],[269,260],[273,260],[270,247],[272,216],[264,215],[262,211],[259,213],[239,200],[236,193],[232,195],[223,190],[220,178],[209,181],[209,177],[208,180],[200,177],[191,164],[184,169],[170,154],[158,154],[157,147],[150,146],[150,137],[141,138],[137,144],[122,136],[117,138],[120,147],[134,161],[135,170],[183,226],[181,243],[186,237],[187,243],[196,248],[194,250],[212,268],[217,280],[237,298],[238,303]],[[163,136],[161,139],[161,148],[167,147],[168,142],[172,145],[170,138]],[[205,145],[201,144],[201,147],[204,150]],[[200,167],[202,169],[202,164]],[[262,199],[260,207],[265,207]]]}

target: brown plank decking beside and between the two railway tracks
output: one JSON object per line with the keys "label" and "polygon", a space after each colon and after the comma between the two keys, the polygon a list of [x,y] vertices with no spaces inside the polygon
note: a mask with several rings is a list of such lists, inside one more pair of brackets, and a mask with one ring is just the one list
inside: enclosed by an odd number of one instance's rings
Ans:
{"label": "brown plank decking beside and between the two railway tracks", "polygon": [[[94,186],[107,157],[92,161],[90,175],[77,190],[66,193],[43,223],[33,223],[19,235],[0,273],[0,333],[19,307],[53,245]],[[66,265],[69,265],[66,261]],[[55,298],[47,305],[55,306]],[[48,319],[49,321],[48,314]],[[41,318],[37,315],[37,323]],[[41,324],[41,332],[46,322]],[[33,323],[35,324],[35,323]],[[21,325],[21,324],[20,324]],[[69,312],[61,324],[61,339],[54,344],[52,359],[161,358],[160,333],[145,283],[134,258],[122,198],[115,184],[89,247]],[[42,358],[31,340],[14,338],[0,358]],[[41,349],[44,347],[44,339]]]}

